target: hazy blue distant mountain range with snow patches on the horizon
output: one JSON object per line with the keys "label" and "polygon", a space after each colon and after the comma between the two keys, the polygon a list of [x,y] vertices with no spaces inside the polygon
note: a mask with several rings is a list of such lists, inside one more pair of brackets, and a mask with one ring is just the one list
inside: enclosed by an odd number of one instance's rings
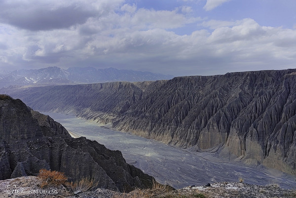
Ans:
{"label": "hazy blue distant mountain range with snow patches on the horizon", "polygon": [[0,88],[26,85],[71,85],[115,81],[154,81],[171,79],[171,75],[148,71],[93,67],[70,67],[67,70],[57,66],[41,69],[19,69],[12,72],[0,71]]}

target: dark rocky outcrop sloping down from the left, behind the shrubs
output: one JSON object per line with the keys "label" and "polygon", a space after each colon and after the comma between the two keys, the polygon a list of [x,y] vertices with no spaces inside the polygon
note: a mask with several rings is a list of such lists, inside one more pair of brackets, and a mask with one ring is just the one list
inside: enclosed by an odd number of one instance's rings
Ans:
{"label": "dark rocky outcrop sloping down from the left, behind the shrubs", "polygon": [[64,172],[69,180],[94,178],[98,187],[119,191],[148,188],[153,179],[128,165],[120,151],[72,138],[49,116],[0,95],[0,180],[37,175],[41,168]]}

